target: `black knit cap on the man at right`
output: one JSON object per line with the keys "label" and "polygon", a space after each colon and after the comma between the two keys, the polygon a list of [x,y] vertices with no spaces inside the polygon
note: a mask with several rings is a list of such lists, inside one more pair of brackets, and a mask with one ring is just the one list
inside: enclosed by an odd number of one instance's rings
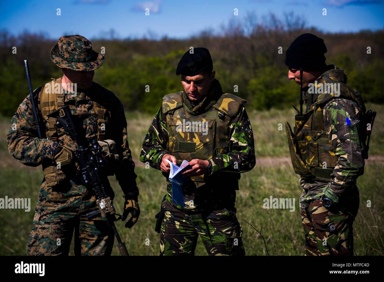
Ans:
{"label": "black knit cap on the man at right", "polygon": [[296,38],[285,53],[285,64],[291,69],[303,71],[322,71],[326,69],[327,47],[324,40],[311,33]]}

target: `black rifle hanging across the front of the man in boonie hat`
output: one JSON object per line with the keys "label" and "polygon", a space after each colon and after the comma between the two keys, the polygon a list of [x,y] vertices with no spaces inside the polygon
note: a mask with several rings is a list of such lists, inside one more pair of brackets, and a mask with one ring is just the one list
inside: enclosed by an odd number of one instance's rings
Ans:
{"label": "black rifle hanging across the front of the man in boonie hat", "polygon": [[79,164],[80,171],[76,170],[76,172],[82,184],[96,197],[96,205],[98,206],[98,209],[86,214],[87,218],[93,219],[98,216],[107,218],[108,224],[112,227],[118,241],[120,254],[122,256],[129,256],[114,224],[115,221],[122,219],[122,215],[116,214],[111,197],[106,192],[106,188],[111,187],[107,176],[108,162],[104,158],[103,150],[99,143],[96,139],[90,145],[82,142],[74,125],[69,105],[52,112],[48,117],[56,118],[58,123],[78,145],[75,153],[75,162]]}

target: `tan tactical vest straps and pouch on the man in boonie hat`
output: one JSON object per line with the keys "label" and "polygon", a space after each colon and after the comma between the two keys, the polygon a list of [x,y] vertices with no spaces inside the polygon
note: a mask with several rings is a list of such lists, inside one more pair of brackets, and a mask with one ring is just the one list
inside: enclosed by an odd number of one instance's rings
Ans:
{"label": "tan tactical vest straps and pouch on the man in boonie hat", "polygon": [[[60,87],[55,89],[55,85],[59,84]],[[58,91],[60,90],[60,91]],[[40,96],[40,110],[43,117],[43,123],[46,127],[46,137],[49,140],[57,142],[58,137],[64,135],[64,132],[58,132],[56,128],[57,120],[47,115],[54,112],[61,107],[64,107],[64,95],[61,93],[63,88],[61,87],[61,78],[52,80],[41,87],[39,93]],[[105,131],[102,130],[102,126],[107,124],[108,119],[106,118],[107,109],[101,106],[99,103],[93,101],[93,110],[97,116],[97,140],[105,140]],[[46,158],[42,163],[44,177],[48,187],[55,186],[58,183],[62,183],[65,180],[65,173],[56,167],[53,160]]]}

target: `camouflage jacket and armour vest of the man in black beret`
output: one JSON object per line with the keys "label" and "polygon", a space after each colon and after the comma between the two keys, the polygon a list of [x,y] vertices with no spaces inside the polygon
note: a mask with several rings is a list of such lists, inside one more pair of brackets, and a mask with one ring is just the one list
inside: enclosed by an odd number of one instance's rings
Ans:
{"label": "camouflage jacket and armour vest of the man in black beret", "polygon": [[[174,155],[178,165],[184,159],[209,160],[212,173],[191,177],[183,186],[186,203],[190,199],[200,208],[208,201],[211,207],[234,206],[240,173],[255,166],[252,127],[243,102],[223,93],[216,79],[198,105],[192,104],[184,92],[165,96],[144,138],[140,161],[160,170],[164,154]],[[189,131],[188,122],[205,123],[207,132]],[[181,128],[185,124],[187,130]],[[170,193],[169,181],[167,190]]]}

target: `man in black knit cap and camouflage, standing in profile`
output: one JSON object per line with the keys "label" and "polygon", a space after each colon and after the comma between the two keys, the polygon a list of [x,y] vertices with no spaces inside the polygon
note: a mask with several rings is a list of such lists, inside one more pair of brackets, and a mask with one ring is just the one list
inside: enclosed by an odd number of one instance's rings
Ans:
{"label": "man in black knit cap and camouflage, standing in profile", "polygon": [[[365,106],[346,85],[343,69],[325,64],[323,39],[306,33],[286,51],[288,78],[306,103],[286,134],[303,193],[301,216],[307,255],[353,255],[352,224],[359,208],[356,179],[364,173]],[[302,71],[302,74],[301,71]]]}

